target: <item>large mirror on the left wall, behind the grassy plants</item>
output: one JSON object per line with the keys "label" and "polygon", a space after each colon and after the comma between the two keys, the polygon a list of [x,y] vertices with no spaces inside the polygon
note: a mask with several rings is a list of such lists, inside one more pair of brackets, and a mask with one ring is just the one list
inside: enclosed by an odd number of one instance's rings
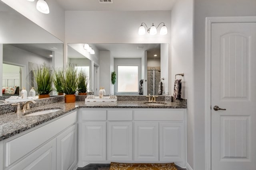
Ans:
{"label": "large mirror on the left wall, behind the grassy plants", "polygon": [[[0,84],[22,87],[27,92],[32,86],[32,70],[46,63],[52,68],[63,67],[63,42],[4,3],[0,3]],[[12,94],[2,94],[7,98]]]}

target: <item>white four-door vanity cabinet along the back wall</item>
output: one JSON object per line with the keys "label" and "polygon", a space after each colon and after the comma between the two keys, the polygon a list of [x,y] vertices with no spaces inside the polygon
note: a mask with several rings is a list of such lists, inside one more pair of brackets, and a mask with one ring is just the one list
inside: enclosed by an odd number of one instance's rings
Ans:
{"label": "white four-door vanity cabinet along the back wall", "polygon": [[80,108],[78,166],[175,162],[186,166],[186,109]]}

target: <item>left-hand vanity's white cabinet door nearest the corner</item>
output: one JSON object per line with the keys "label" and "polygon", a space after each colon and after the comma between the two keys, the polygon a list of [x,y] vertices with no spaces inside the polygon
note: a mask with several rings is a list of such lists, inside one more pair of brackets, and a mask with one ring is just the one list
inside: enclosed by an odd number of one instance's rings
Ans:
{"label": "left-hand vanity's white cabinet door nearest the corner", "polygon": [[57,137],[57,170],[71,170],[76,166],[76,125]]}

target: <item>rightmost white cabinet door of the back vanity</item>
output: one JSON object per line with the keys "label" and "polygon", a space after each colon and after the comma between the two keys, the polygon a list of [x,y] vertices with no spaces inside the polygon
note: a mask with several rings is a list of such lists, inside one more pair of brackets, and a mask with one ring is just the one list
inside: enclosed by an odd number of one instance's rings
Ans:
{"label": "rightmost white cabinet door of the back vanity", "polygon": [[184,123],[159,123],[159,160],[185,166]]}

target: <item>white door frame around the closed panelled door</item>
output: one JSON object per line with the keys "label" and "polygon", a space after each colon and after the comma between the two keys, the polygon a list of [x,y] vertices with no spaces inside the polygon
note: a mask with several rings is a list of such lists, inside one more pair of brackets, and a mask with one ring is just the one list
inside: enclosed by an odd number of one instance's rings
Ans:
{"label": "white door frame around the closed panelled door", "polygon": [[212,169],[211,157],[211,46],[212,23],[250,23],[256,22],[256,16],[245,17],[206,17],[205,25],[205,169]]}

